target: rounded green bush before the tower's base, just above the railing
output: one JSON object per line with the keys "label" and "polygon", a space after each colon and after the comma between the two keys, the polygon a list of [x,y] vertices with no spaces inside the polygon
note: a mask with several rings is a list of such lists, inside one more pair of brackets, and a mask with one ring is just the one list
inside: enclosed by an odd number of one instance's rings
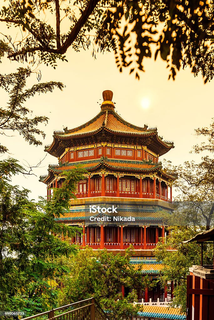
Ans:
{"label": "rounded green bush before the tower's base, just above the railing", "polygon": [[[94,252],[88,247],[81,250],[67,261],[70,274],[61,279],[59,305],[94,297],[113,318],[136,315],[139,306],[129,302],[137,301],[135,290],[143,285],[143,279],[140,270],[129,263],[131,254],[130,249],[124,256],[107,250]],[[126,298],[122,296],[121,285],[133,289]]]}

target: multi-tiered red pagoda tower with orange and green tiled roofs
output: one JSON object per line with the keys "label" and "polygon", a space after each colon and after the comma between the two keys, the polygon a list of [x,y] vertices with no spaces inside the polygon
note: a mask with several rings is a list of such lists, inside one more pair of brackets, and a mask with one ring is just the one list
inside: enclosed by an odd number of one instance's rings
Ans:
{"label": "multi-tiered red pagoda tower with orange and green tiled roofs", "polygon": [[[138,127],[115,112],[113,92],[103,92],[97,116],[74,129],[54,132],[54,140],[45,151],[58,158],[49,165],[48,175],[40,177],[47,185],[47,197],[53,188],[60,188],[63,172],[81,164],[87,170],[85,179],[76,186],[76,199],[70,201],[70,212],[57,220],[82,228],[72,243],[81,248],[104,249],[121,254],[133,245],[130,263],[143,263],[144,275],[155,279],[162,268],[154,258],[153,249],[167,231],[161,211],[172,211],[172,180],[165,172],[159,156],[174,148],[164,141],[157,128],[144,124]],[[92,206],[114,208],[116,212],[91,211]],[[94,208],[93,207],[93,208]],[[171,291],[172,291],[171,284]],[[122,288],[126,294],[125,288]],[[138,292],[139,300],[167,298],[165,289]]]}

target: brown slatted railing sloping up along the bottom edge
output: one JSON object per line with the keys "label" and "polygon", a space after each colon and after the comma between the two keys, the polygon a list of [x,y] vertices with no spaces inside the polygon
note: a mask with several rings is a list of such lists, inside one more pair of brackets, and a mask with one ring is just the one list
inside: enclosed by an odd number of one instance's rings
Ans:
{"label": "brown slatted railing sloping up along the bottom edge", "polygon": [[22,320],[109,320],[94,298],[74,302],[67,306],[29,316]]}

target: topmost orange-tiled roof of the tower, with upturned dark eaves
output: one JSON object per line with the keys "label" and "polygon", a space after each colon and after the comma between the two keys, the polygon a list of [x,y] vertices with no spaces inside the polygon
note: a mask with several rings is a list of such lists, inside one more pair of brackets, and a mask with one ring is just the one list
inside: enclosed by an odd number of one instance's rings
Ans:
{"label": "topmost orange-tiled roof of the tower, with upturned dark eaves", "polygon": [[[104,99],[110,98],[104,97]],[[45,151],[54,156],[59,156],[57,148],[60,148],[60,141],[94,136],[99,133],[103,134],[104,132],[114,135],[152,139],[159,146],[159,155],[163,155],[171,148],[174,148],[173,142],[164,141],[162,137],[158,136],[157,128],[148,129],[146,124],[143,127],[133,125],[119,116],[114,111],[114,108],[114,103],[111,100],[104,100],[98,115],[85,124],[73,129],[64,128],[64,131],[55,131],[53,135],[54,141],[50,146],[45,147]],[[151,142],[151,140],[149,141]]]}

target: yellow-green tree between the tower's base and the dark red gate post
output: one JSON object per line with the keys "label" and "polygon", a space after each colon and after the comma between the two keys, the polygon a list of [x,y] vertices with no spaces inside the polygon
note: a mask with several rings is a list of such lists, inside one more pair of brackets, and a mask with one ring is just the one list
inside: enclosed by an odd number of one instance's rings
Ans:
{"label": "yellow-green tree between the tower's base and the dark red gate post", "polygon": [[[180,306],[182,311],[186,312],[186,276],[189,274],[189,268],[192,265],[201,263],[201,247],[196,242],[183,244],[197,233],[204,231],[205,228],[174,226],[168,227],[171,236],[168,236],[165,243],[158,242],[155,249],[155,256],[158,261],[163,261],[164,268],[158,277],[158,280],[164,287],[167,281],[174,280],[174,299],[172,306]],[[174,249],[167,250],[167,247]],[[176,250],[175,250],[176,249]],[[204,252],[204,264],[210,264],[212,261],[212,247],[207,245]]]}

